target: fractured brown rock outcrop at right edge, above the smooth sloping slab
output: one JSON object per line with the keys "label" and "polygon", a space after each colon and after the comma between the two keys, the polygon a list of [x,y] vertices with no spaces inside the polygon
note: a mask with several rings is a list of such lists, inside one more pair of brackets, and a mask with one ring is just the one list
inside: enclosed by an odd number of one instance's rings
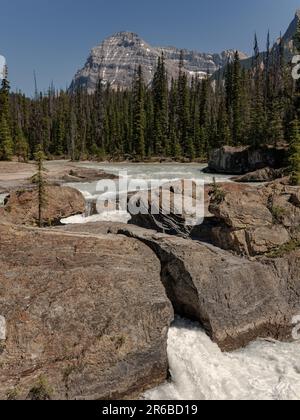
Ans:
{"label": "fractured brown rock outcrop at right edge, above the smooth sloping slab", "polygon": [[275,182],[260,188],[219,188],[219,197],[212,196],[209,206],[215,217],[209,238],[214,245],[256,256],[299,240],[299,187]]}

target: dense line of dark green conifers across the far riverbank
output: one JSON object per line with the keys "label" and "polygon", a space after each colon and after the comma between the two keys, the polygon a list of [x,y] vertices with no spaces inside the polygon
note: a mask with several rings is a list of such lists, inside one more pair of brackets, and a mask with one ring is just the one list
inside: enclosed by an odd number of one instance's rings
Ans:
{"label": "dense line of dark green conifers across the far riverbank", "polygon": [[[295,35],[300,51],[300,28]],[[152,157],[207,159],[223,145],[290,144],[291,162],[299,165],[300,82],[293,80],[281,39],[266,53],[254,41],[252,65],[238,52],[224,71],[205,78],[188,77],[183,56],[178,77],[169,80],[162,54],[150,86],[142,67],[132,87],[112,89],[99,80],[93,94],[84,88],[28,98],[0,90],[0,159],[26,161],[37,150],[72,160]]]}

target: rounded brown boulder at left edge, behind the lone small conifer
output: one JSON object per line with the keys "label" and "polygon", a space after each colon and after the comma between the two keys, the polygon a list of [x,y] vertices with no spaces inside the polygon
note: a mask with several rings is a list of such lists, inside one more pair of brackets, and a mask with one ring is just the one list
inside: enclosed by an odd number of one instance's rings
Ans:
{"label": "rounded brown boulder at left edge, behind the lone small conifer", "polygon": [[[48,186],[45,190],[46,203],[42,210],[44,225],[60,224],[62,218],[83,214],[83,195],[69,187]],[[38,223],[37,189],[13,192],[0,208],[0,220],[14,224],[36,225]]]}

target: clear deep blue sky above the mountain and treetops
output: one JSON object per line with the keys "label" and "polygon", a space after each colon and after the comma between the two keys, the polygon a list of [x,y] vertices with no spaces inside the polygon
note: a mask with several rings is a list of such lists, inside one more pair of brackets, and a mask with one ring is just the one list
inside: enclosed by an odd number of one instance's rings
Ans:
{"label": "clear deep blue sky above the mountain and treetops", "polygon": [[153,45],[202,52],[251,53],[257,31],[265,46],[285,32],[300,0],[0,0],[0,54],[12,88],[33,92],[51,81],[65,88],[90,49],[118,31]]}

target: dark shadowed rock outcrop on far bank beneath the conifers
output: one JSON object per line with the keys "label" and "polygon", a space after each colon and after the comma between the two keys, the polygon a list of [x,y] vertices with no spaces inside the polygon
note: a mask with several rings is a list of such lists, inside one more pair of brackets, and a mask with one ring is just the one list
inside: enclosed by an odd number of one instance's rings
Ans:
{"label": "dark shadowed rock outcrop on far bank beneath the conifers", "polygon": [[287,159],[288,150],[285,147],[252,149],[224,146],[211,153],[206,171],[243,175],[266,167],[279,169],[287,166]]}

